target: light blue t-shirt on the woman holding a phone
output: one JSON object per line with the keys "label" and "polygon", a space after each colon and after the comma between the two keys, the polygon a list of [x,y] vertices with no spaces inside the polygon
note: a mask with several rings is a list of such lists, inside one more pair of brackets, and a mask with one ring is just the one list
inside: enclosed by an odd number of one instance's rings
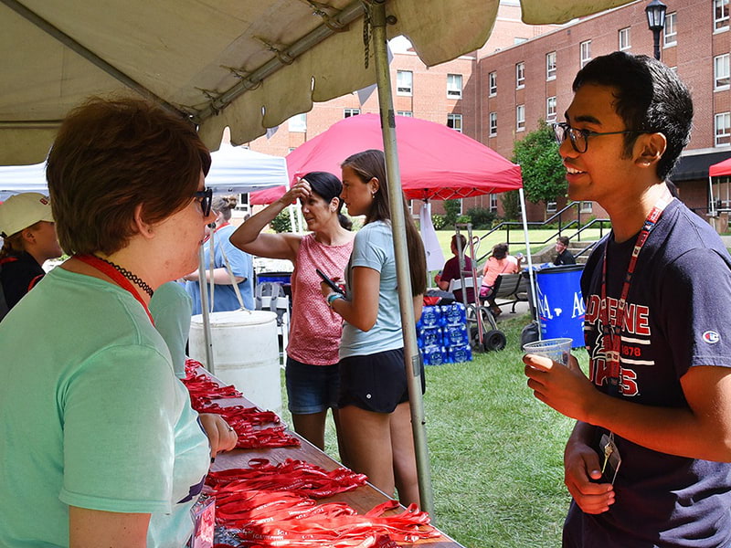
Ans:
{"label": "light blue t-shirt on the woman holding a phone", "polygon": [[391,226],[383,221],[368,223],[355,235],[353,255],[347,267],[347,288],[353,284],[353,269],[366,267],[381,273],[376,325],[364,332],[344,322],[340,358],[396,350],[404,345],[401,308],[398,304],[396,257]]}

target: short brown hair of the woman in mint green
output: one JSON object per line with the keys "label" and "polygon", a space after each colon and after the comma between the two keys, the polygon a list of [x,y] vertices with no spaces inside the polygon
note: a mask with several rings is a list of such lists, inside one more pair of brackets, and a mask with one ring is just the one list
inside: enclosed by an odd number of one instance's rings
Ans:
{"label": "short brown hair of the woman in mint green", "polygon": [[158,223],[194,197],[210,154],[182,116],[139,99],[91,98],[70,111],[48,154],[48,191],[61,247],[110,255],[135,233],[142,205]]}

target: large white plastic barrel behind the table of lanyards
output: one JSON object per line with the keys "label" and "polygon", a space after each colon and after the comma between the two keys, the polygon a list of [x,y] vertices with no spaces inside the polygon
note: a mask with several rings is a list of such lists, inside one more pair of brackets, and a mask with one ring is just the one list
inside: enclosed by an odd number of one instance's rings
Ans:
{"label": "large white plastic barrel behind the table of lanyards", "polygon": [[[214,372],[248,400],[281,416],[280,349],[277,314],[229,311],[209,314]],[[190,321],[190,357],[206,364],[203,316]]]}

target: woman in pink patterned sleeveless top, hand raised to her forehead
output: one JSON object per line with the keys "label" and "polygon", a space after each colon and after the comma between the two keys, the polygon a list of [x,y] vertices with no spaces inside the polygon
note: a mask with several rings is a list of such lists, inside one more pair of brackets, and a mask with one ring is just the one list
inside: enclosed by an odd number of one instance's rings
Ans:
{"label": "woman in pink patterned sleeveless top, hand raised to her forehead", "polygon": [[[323,300],[321,280],[315,269],[321,269],[332,279],[343,279],[353,250],[350,221],[340,213],[342,188],[334,174],[306,174],[287,194],[249,218],[231,235],[231,243],[247,253],[288,258],[294,263],[285,371],[287,396],[295,431],[320,449],[324,448],[328,407],[333,409],[335,427],[338,427],[338,348],[342,320]],[[281,210],[298,199],[307,228],[312,231],[310,234],[261,232]],[[341,458],[344,458],[342,451]]]}

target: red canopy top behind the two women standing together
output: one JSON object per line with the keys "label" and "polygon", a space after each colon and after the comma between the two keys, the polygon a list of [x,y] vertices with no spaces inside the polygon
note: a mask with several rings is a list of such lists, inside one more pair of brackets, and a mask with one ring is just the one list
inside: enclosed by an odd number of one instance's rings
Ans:
{"label": "red canopy top behind the two women standing together", "polygon": [[[448,200],[515,190],[522,186],[520,166],[446,125],[396,117],[401,184],[408,198]],[[313,171],[340,176],[340,164],[354,153],[383,150],[380,117],[358,114],[334,123],[287,155],[291,181]],[[251,195],[252,204],[270,204],[284,187]]]}

